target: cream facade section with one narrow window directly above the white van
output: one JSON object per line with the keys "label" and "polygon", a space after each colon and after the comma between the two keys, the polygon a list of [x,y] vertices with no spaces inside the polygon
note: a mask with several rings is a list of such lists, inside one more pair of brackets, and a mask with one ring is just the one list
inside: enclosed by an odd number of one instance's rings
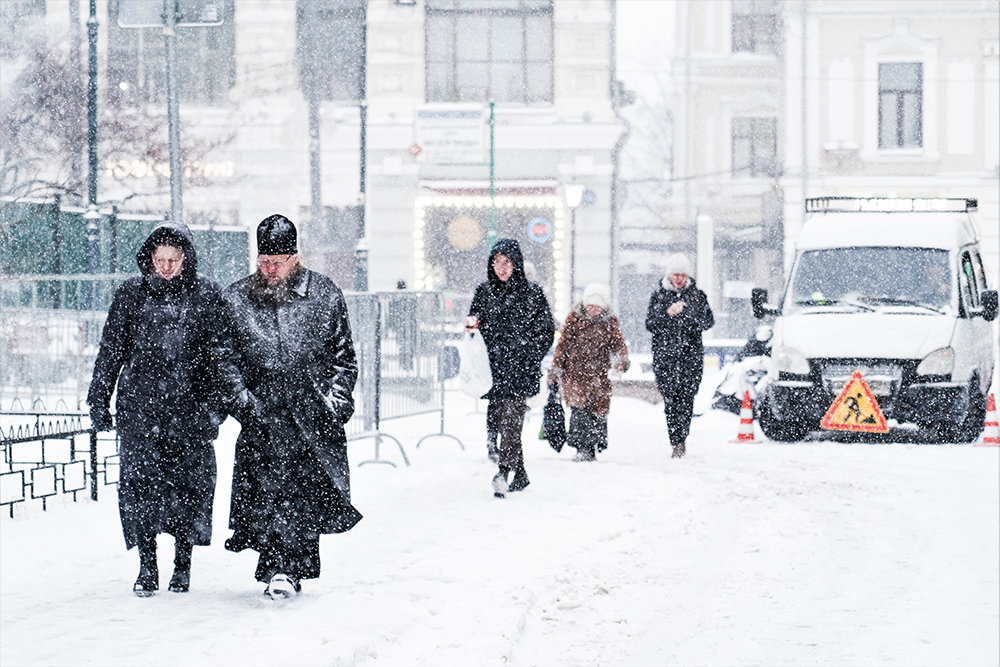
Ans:
{"label": "cream facade section with one narrow window directly above the white van", "polygon": [[786,266],[805,197],[968,197],[995,287],[1000,3],[786,5]]}

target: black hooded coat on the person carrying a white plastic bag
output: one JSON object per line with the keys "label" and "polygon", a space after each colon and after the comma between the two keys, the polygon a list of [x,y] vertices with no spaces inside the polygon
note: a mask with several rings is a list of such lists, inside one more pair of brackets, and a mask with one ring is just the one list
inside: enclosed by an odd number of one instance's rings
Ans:
{"label": "black hooded coat on the person carrying a white plastic bag", "polygon": [[[505,282],[493,270],[493,259],[504,255],[514,265]],[[538,393],[542,359],[552,347],[555,322],[542,288],[524,275],[521,248],[512,239],[493,246],[486,265],[487,280],[476,288],[469,314],[479,319],[479,331],[490,355],[493,387],[490,398],[528,397]]]}

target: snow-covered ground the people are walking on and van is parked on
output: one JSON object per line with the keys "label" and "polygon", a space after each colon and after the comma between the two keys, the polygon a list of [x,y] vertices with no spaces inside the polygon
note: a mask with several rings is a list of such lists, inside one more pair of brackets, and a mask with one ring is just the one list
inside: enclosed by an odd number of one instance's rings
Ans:
{"label": "snow-covered ground the people are walking on and van is parked on", "polygon": [[[412,467],[353,470],[356,529],[323,576],[265,601],[223,549],[238,425],[217,443],[215,537],[192,590],[137,599],[112,487],[0,518],[3,665],[997,665],[1000,450],[734,444],[696,418],[671,460],[661,408],[616,398],[611,446],[536,438],[531,486],[493,498],[484,404],[383,424]],[[350,446],[352,461],[371,441]],[[400,462],[392,443],[382,456]],[[172,539],[161,536],[161,585]]]}

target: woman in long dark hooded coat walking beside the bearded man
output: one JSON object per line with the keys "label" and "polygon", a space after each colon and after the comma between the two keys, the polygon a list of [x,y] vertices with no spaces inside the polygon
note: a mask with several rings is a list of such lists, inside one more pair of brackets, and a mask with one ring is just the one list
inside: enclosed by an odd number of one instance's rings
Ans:
{"label": "woman in long dark hooded coat walking beside the bearded man", "polygon": [[87,394],[98,431],[112,428],[118,385],[118,507],[128,549],[139,547],[136,595],[159,588],[156,536],[174,536],[169,588],[190,585],[193,545],[212,538],[215,451],[224,415],[221,289],[197,274],[191,232],[164,223],[136,254],[141,275],[115,292]]}

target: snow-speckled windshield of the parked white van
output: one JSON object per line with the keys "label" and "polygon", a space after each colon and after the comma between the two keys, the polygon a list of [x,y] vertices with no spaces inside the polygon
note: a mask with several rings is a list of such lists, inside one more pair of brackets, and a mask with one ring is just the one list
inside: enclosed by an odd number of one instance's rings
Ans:
{"label": "snow-speckled windshield of the parked white van", "polygon": [[788,312],[836,306],[942,312],[951,303],[948,251],[852,247],[807,250],[795,267]]}

